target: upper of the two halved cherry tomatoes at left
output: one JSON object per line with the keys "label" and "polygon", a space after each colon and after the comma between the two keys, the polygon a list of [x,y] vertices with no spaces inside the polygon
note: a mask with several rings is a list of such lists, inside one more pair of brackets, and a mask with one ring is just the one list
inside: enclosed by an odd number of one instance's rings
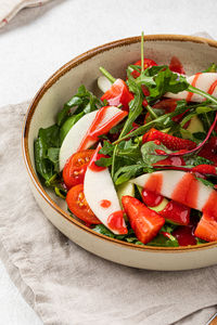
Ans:
{"label": "upper of the two halved cherry tomatoes at left", "polygon": [[84,183],[85,173],[93,154],[94,150],[81,151],[73,154],[67,160],[63,169],[63,180],[68,190]]}

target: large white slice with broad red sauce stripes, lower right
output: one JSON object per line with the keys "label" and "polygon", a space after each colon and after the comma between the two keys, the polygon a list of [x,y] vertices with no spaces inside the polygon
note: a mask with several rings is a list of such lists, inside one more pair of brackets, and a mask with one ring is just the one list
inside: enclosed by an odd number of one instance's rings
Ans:
{"label": "large white slice with broad red sauce stripes, lower right", "polygon": [[204,185],[184,171],[163,170],[142,174],[133,184],[154,191],[190,208],[210,210],[217,218],[217,191]]}

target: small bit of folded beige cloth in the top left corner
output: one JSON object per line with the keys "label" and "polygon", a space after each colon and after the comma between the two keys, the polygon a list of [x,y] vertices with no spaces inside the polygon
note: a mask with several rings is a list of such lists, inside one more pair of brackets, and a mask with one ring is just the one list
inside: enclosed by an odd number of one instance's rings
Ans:
{"label": "small bit of folded beige cloth in the top left corner", "polygon": [[52,0],[40,6],[25,8],[21,10],[17,15],[9,22],[9,24],[4,25],[0,29],[0,35],[34,23],[34,21],[47,14],[48,11],[52,10],[52,8],[63,3],[64,1],[68,0]]}

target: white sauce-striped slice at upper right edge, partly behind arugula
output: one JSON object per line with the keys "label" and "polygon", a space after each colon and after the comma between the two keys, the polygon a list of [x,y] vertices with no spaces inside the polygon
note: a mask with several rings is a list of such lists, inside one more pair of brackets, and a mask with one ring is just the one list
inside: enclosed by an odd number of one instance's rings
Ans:
{"label": "white sauce-striped slice at upper right edge, partly behind arugula", "polygon": [[[187,77],[187,81],[190,84],[192,84],[205,92],[208,92],[210,87],[214,86],[212,95],[217,96],[217,73],[196,74],[191,77]],[[216,87],[215,87],[215,82],[216,82]],[[189,95],[189,91],[186,91],[186,90],[178,92],[178,93],[167,92],[165,94],[166,98],[177,99],[177,100],[187,100],[188,95]],[[204,98],[194,93],[191,96],[191,101],[201,103],[204,101]]]}

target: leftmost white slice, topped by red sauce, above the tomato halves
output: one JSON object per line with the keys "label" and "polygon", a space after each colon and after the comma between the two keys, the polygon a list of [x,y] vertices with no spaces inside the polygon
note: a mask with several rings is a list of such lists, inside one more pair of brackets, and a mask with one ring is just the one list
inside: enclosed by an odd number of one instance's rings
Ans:
{"label": "leftmost white slice, topped by red sauce, above the tomato halves", "polygon": [[[60,150],[60,156],[59,156],[59,160],[60,160],[60,171],[63,170],[65,162],[67,161],[67,159],[77,152],[77,150],[79,148],[79,145],[82,141],[82,139],[86,136],[88,129],[90,128],[90,126],[92,125],[97,114],[99,110],[94,110],[91,112],[89,114],[86,114],[85,116],[82,116],[73,127],[72,129],[68,131],[68,133],[66,134],[61,150]],[[125,116],[126,113],[124,114],[124,112],[115,106],[110,106],[106,109],[106,113],[102,119],[102,121],[100,122],[100,125],[98,126],[98,128],[100,128],[102,125],[106,123],[110,119],[112,119],[115,115],[123,113],[123,117],[116,122],[114,123],[117,125]],[[93,145],[97,141],[93,140],[89,140],[85,150],[89,148],[91,145]]]}

